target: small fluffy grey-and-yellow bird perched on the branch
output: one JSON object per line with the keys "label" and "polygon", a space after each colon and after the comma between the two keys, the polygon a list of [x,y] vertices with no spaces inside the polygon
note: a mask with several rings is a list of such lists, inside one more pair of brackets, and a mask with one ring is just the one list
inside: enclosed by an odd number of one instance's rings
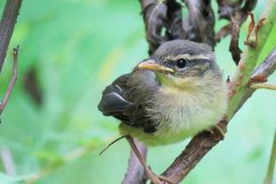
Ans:
{"label": "small fluffy grey-and-yellow bird perched on the branch", "polygon": [[133,138],[147,146],[180,142],[216,126],[227,108],[226,82],[214,52],[188,40],[163,42],[102,95],[98,110],[121,121],[119,133],[154,184],[173,180],[149,169]]}

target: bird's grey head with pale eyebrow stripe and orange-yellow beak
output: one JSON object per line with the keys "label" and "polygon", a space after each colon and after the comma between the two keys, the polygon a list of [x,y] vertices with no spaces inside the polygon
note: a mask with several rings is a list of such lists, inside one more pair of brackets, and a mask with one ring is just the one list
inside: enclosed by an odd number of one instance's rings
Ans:
{"label": "bird's grey head with pale eyebrow stripe and orange-yellow beak", "polygon": [[164,42],[138,68],[154,71],[162,85],[173,85],[177,88],[206,85],[204,80],[221,78],[211,48],[204,43],[191,41]]}

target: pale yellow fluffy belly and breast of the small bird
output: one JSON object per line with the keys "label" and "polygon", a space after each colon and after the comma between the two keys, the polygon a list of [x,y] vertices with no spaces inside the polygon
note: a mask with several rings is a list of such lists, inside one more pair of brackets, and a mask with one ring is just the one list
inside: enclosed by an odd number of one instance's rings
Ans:
{"label": "pale yellow fluffy belly and breast of the small bird", "polygon": [[139,134],[138,139],[149,145],[180,142],[215,125],[226,111],[225,95],[207,98],[204,93],[177,93],[161,91],[152,98],[146,111],[157,132]]}

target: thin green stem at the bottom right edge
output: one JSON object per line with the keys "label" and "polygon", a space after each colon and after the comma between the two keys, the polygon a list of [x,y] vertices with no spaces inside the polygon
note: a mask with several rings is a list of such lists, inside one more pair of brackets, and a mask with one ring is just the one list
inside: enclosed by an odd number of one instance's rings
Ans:
{"label": "thin green stem at the bottom right edge", "polygon": [[264,184],[272,184],[275,160],[276,160],[276,131],[274,134],[274,139],[273,139],[273,144],[272,144],[272,153],[271,153],[271,157],[269,159],[269,165],[268,165],[268,170],[266,173]]}

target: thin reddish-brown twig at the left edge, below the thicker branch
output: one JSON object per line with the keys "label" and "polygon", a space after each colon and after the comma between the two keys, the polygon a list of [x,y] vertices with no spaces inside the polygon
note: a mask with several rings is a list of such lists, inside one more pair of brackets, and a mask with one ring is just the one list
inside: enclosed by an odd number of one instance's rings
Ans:
{"label": "thin reddish-brown twig at the left edge, below the thicker branch", "polygon": [[10,81],[7,92],[4,95],[3,101],[0,103],[0,114],[4,111],[5,106],[8,103],[8,100],[12,94],[12,88],[14,87],[14,83],[17,80],[18,73],[18,52],[19,46],[13,49],[13,69],[12,69],[12,80]]}

